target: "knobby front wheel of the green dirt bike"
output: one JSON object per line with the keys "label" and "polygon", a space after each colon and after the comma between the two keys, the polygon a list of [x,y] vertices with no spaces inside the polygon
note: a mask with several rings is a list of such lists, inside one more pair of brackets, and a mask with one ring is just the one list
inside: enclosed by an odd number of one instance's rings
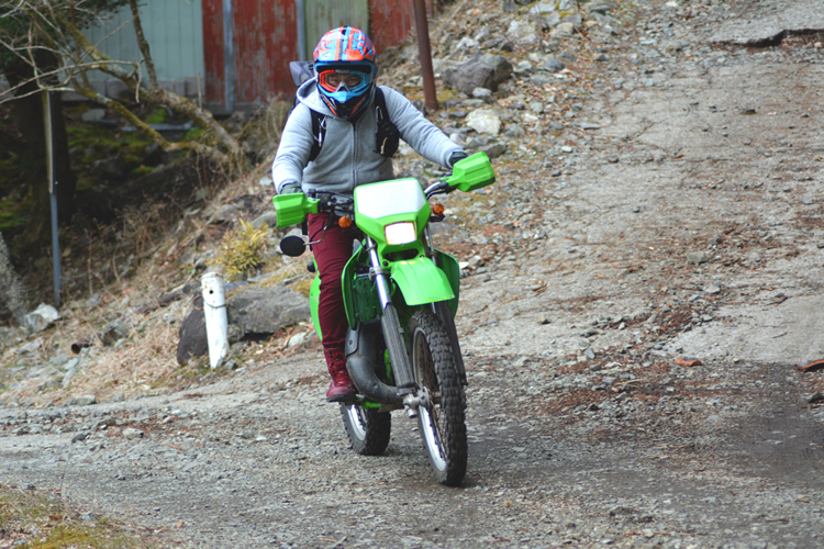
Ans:
{"label": "knobby front wheel of the green dirt bike", "polygon": [[423,404],[417,425],[430,464],[441,484],[457,486],[467,463],[466,397],[449,336],[431,311],[419,311],[409,323],[415,384]]}

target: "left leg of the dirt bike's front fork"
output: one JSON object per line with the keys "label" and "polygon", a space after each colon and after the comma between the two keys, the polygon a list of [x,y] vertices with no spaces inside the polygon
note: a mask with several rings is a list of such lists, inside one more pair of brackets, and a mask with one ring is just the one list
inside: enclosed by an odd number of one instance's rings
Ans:
{"label": "left leg of the dirt bike's front fork", "polygon": [[415,386],[412,362],[407,351],[405,341],[403,340],[403,329],[401,328],[400,318],[392,304],[389,273],[383,269],[383,265],[378,256],[378,247],[369,236],[366,237],[366,249],[369,253],[370,274],[375,278],[375,285],[378,289],[378,300],[380,301],[381,309],[380,326],[383,330],[383,340],[389,350],[396,386],[401,393],[404,393],[403,407],[407,408],[407,415],[409,417],[417,417],[417,406],[423,404],[423,402]]}

